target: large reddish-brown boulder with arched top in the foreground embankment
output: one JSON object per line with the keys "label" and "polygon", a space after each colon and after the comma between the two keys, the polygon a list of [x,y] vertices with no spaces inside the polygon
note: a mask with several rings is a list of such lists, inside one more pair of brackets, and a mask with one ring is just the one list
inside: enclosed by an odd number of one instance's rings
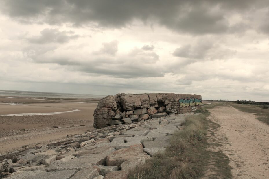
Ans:
{"label": "large reddish-brown boulder with arched top in the foreground embankment", "polygon": [[121,163],[134,157],[150,158],[150,156],[140,148],[122,148],[107,156],[106,165],[119,167]]}

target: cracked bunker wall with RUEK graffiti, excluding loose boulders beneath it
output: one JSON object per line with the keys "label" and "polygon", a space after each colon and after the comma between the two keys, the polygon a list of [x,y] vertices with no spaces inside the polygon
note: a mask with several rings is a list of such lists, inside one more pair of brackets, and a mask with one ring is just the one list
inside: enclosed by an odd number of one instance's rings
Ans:
{"label": "cracked bunker wall with RUEK graffiti, excluding loose boulders beneath it", "polygon": [[[106,96],[100,100],[94,111],[94,128],[110,126],[112,119],[117,114],[129,118],[133,110],[160,107],[176,109],[177,113],[195,112],[201,109],[202,97],[196,94],[174,93],[145,93],[145,94],[116,94]],[[124,114],[123,114],[124,113]]]}

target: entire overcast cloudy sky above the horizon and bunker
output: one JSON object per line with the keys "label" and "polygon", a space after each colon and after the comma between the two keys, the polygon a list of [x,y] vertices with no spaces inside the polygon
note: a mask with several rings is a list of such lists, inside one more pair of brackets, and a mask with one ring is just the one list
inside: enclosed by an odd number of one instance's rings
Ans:
{"label": "entire overcast cloudy sky above the horizon and bunker", "polygon": [[1,0],[0,89],[269,101],[268,19],[268,0]]}

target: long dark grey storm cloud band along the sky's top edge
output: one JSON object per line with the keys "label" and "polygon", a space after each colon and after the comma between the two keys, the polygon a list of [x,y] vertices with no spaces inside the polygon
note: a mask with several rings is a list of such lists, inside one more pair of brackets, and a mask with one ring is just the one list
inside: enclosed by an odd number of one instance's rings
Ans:
{"label": "long dark grey storm cloud band along the sky's top edge", "polygon": [[120,28],[134,19],[153,21],[169,29],[192,34],[229,32],[227,15],[268,6],[268,1],[126,1],[126,0],[5,0],[1,12],[27,23]]}

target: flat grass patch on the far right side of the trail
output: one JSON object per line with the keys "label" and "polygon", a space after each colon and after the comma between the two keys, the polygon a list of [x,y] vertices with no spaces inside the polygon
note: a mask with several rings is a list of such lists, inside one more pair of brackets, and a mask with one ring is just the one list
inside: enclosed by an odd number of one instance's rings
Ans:
{"label": "flat grass patch on the far right side of the trail", "polygon": [[247,113],[255,113],[257,120],[269,125],[269,109],[266,105],[236,104],[230,103],[232,107]]}

